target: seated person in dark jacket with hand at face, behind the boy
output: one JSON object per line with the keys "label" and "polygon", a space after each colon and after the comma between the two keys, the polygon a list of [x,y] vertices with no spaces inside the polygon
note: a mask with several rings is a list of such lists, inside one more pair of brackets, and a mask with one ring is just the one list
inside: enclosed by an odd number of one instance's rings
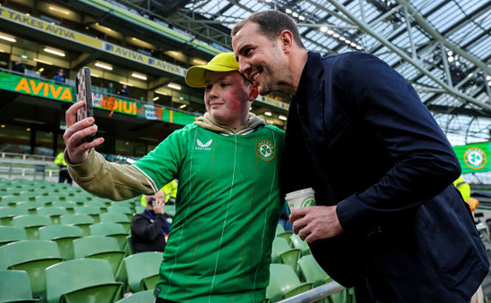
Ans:
{"label": "seated person in dark jacket with hand at face, behind the boy", "polygon": [[146,196],[146,209],[133,216],[131,220],[131,242],[135,253],[143,251],[163,251],[167,236],[171,231],[171,218],[164,213],[165,194],[159,190]]}

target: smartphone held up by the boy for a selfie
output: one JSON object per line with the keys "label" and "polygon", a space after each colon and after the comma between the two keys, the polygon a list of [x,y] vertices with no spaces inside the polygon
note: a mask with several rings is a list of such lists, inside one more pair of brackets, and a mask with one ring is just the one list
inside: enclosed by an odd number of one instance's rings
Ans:
{"label": "smartphone held up by the boy for a selfie", "polygon": [[[90,84],[90,69],[84,67],[75,76],[75,91],[77,94],[77,102],[84,102],[84,106],[77,112],[77,121],[81,121],[87,117],[94,117],[94,109],[92,107],[92,86]],[[83,139],[83,142],[91,142],[96,137],[96,134],[88,135]]]}

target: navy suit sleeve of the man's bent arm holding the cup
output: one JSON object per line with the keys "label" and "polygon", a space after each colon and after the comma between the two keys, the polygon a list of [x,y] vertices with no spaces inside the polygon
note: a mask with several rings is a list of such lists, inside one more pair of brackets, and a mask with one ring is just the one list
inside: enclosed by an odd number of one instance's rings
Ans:
{"label": "navy suit sleeve of the man's bent arm holding the cup", "polygon": [[359,54],[347,56],[338,75],[363,129],[374,144],[383,144],[394,163],[378,182],[337,204],[345,230],[370,217],[420,206],[459,177],[454,149],[399,73],[373,55]]}

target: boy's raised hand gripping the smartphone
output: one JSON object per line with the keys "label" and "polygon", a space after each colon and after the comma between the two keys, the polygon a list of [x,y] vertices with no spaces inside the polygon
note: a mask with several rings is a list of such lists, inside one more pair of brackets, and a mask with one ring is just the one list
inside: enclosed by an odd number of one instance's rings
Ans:
{"label": "boy's raised hand gripping the smartphone", "polygon": [[88,135],[96,133],[97,131],[97,126],[94,124],[95,120],[93,117],[88,117],[77,122],[77,111],[83,106],[83,102],[77,102],[74,105],[71,105],[65,114],[66,130],[63,134],[63,140],[65,141],[71,164],[84,162],[87,160],[90,148],[97,147],[104,142],[103,138],[94,139],[92,142],[82,142]]}

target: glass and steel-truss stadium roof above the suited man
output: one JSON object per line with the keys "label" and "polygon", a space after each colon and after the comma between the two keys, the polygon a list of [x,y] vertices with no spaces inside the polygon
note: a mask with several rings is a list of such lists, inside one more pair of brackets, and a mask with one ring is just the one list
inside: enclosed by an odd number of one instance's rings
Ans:
{"label": "glass and steel-truss stadium roof above the suited man", "polygon": [[491,1],[120,0],[174,29],[231,50],[231,27],[277,9],[297,22],[308,50],[361,50],[412,83],[454,145],[490,140]]}

